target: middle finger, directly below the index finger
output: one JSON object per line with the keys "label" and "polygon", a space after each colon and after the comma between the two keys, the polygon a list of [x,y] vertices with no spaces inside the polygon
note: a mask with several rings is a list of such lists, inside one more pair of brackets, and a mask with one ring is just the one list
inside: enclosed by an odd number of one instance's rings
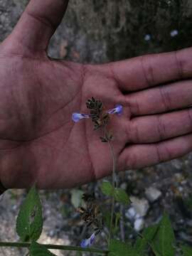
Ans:
{"label": "middle finger, directly below the index finger", "polygon": [[192,105],[191,80],[132,92],[125,97],[132,117],[190,107]]}

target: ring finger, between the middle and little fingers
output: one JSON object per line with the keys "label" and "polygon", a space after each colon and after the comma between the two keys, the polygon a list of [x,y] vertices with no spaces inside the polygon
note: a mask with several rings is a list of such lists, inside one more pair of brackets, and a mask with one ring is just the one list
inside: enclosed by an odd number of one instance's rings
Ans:
{"label": "ring finger, between the middle and little fingers", "polygon": [[152,143],[192,132],[192,109],[135,117],[126,124],[128,143]]}

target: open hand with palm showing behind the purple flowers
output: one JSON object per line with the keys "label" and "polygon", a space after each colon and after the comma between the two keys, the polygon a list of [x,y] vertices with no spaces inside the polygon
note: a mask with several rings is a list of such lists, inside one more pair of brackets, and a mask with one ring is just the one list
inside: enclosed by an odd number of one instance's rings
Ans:
{"label": "open hand with palm showing behind the purple flowers", "polygon": [[169,161],[192,149],[192,48],[116,63],[50,59],[50,37],[68,1],[31,0],[0,45],[0,177],[6,188],[68,188],[111,174],[109,144],[87,114],[90,97],[122,104],[108,129],[117,168]]}

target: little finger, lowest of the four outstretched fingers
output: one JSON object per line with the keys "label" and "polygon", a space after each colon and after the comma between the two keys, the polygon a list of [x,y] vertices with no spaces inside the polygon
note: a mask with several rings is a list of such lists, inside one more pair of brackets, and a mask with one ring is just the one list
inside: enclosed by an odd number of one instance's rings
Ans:
{"label": "little finger, lowest of the four outstretched fingers", "polygon": [[156,144],[127,146],[119,156],[119,168],[138,169],[176,159],[192,150],[192,134]]}

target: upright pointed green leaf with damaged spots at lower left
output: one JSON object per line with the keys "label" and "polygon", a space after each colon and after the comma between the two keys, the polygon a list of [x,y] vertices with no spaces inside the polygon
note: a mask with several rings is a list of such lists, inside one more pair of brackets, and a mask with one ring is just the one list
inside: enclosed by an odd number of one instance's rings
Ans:
{"label": "upright pointed green leaf with damaged spots at lower left", "polygon": [[43,228],[41,201],[33,186],[21,205],[16,220],[16,232],[22,242],[38,240]]}

